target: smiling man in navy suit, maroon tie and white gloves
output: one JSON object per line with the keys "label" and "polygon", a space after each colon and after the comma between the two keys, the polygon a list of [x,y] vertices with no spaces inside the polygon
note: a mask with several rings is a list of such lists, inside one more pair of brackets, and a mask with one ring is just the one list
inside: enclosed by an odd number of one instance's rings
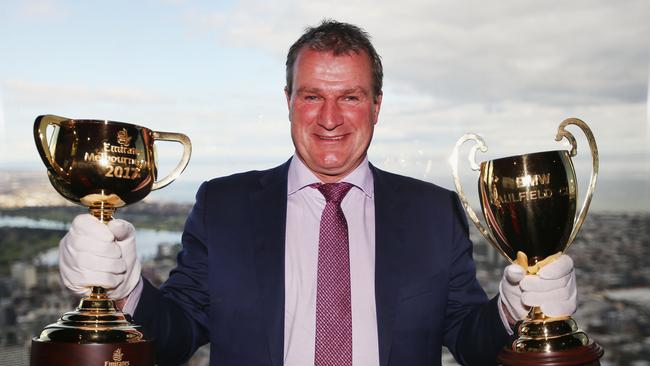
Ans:
{"label": "smiling man in navy suit, maroon tie and white gloves", "polygon": [[572,313],[568,257],[539,278],[509,266],[488,300],[455,194],[368,163],[382,75],[359,28],[307,29],[287,57],[295,155],[204,183],[160,289],[140,277],[130,224],[76,218],[61,242],[66,284],[111,288],[160,365],[207,342],[212,365],[434,365],[441,345],[489,365],[529,306]]}

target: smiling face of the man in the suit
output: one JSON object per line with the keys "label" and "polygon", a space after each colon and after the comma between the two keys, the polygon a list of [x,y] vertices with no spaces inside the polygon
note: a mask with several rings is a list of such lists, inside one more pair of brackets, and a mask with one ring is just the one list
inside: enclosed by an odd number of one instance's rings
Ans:
{"label": "smiling face of the man in the suit", "polygon": [[338,182],[366,155],[381,95],[372,92],[365,52],[334,56],[304,48],[287,93],[291,138],[298,157],[323,182]]}

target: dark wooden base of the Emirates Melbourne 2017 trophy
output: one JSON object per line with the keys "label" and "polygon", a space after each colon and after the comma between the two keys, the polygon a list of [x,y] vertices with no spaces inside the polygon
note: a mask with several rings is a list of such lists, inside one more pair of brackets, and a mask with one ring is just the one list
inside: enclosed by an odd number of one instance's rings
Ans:
{"label": "dark wooden base of the Emirates Melbourne 2017 trophy", "polygon": [[30,366],[153,366],[153,342],[65,343],[32,339]]}

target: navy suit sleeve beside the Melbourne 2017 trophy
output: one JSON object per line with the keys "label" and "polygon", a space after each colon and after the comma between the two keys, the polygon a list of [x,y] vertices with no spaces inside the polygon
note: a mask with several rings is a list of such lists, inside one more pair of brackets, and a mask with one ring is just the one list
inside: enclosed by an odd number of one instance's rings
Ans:
{"label": "navy suit sleeve beside the Melbourne 2017 trophy", "polygon": [[209,339],[206,186],[199,188],[185,223],[176,268],[160,289],[145,280],[134,314],[145,336],[155,342],[158,365],[182,364]]}

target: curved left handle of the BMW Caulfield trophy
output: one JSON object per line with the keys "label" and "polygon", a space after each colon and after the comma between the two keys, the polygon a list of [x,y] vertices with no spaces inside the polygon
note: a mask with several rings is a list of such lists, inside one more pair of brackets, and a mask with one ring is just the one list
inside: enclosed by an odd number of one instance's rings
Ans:
{"label": "curved left handle of the BMW Caulfield trophy", "polygon": [[476,171],[480,169],[480,166],[476,163],[476,154],[478,153],[479,150],[481,152],[486,152],[487,151],[487,145],[485,144],[485,141],[483,141],[483,138],[481,136],[474,134],[474,133],[467,133],[463,135],[458,141],[456,141],[456,146],[454,146],[454,150],[451,153],[451,157],[449,158],[449,163],[451,164],[451,172],[454,176],[454,185],[456,186],[456,192],[458,192],[458,196],[460,198],[460,202],[463,204],[463,207],[465,208],[465,211],[467,212],[467,215],[469,216],[470,220],[474,223],[474,226],[478,229],[478,231],[483,235],[483,237],[496,249],[501,255],[504,257],[508,258],[508,260],[512,261],[510,257],[506,254],[501,247],[499,247],[499,244],[497,243],[496,239],[494,236],[492,236],[492,233],[481,224],[481,221],[478,219],[478,216],[476,215],[476,212],[474,212],[474,209],[472,206],[469,205],[469,202],[467,201],[467,197],[465,196],[465,191],[463,191],[463,187],[460,184],[460,177],[458,176],[458,153],[460,150],[461,145],[463,145],[466,141],[475,141],[476,144],[472,146],[471,150],[469,151],[469,154],[467,155],[467,160],[469,161],[470,166],[472,167],[472,170]]}

